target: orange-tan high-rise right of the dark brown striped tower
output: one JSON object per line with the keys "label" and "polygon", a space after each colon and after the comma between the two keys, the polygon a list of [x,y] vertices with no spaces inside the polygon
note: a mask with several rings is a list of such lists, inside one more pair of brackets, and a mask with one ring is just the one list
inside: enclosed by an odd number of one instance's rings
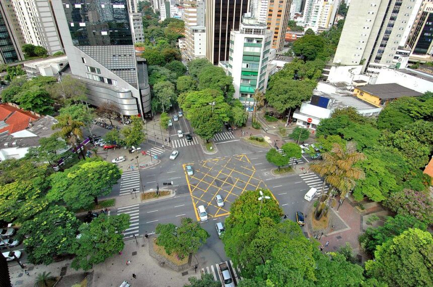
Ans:
{"label": "orange-tan high-rise right of the dark brown striped tower", "polygon": [[273,32],[272,48],[277,52],[284,46],[285,31],[290,14],[292,0],[269,0],[267,25]]}

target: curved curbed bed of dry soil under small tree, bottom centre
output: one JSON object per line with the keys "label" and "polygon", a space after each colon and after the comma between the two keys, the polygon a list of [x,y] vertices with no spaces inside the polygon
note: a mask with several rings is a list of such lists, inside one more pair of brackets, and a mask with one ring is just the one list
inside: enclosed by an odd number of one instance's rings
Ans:
{"label": "curved curbed bed of dry soil under small tree, bottom centre", "polygon": [[191,267],[191,255],[179,259],[176,254],[167,254],[163,246],[156,243],[156,238],[152,238],[152,244],[149,244],[150,255],[157,259],[161,266],[167,266],[176,272],[184,271]]}

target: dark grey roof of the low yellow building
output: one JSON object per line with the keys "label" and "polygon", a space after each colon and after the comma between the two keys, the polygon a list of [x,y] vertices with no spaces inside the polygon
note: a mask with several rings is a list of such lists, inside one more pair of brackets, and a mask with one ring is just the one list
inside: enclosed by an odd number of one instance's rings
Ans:
{"label": "dark grey roof of the low yellow building", "polygon": [[362,87],[356,87],[359,90],[366,91],[370,94],[375,95],[379,99],[396,99],[401,97],[418,97],[422,93],[417,92],[413,89],[401,86],[396,83],[389,84],[376,84],[376,85],[365,85]]}

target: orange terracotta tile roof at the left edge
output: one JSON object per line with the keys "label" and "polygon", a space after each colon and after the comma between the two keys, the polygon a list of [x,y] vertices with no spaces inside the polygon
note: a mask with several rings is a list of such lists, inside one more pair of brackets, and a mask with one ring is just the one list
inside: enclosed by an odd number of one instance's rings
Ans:
{"label": "orange terracotta tile roof at the left edge", "polygon": [[7,104],[0,104],[0,121],[5,121],[7,127],[0,129],[0,133],[8,131],[9,134],[24,130],[29,123],[39,119],[36,115],[19,110]]}

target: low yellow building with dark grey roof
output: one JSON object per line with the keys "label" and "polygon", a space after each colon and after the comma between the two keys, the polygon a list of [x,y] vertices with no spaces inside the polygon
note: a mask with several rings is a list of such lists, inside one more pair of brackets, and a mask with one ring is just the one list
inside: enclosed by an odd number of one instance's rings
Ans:
{"label": "low yellow building with dark grey roof", "polygon": [[401,97],[418,97],[422,93],[396,83],[365,85],[355,87],[353,95],[379,108]]}

